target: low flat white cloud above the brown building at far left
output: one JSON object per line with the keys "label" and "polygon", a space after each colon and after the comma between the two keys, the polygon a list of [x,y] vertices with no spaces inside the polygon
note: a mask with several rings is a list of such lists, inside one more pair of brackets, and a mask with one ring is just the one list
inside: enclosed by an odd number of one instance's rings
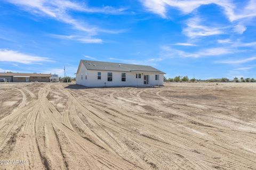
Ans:
{"label": "low flat white cloud above the brown building at far left", "polygon": [[22,64],[41,64],[41,62],[52,62],[50,58],[23,54],[13,50],[0,50],[0,62],[15,62]]}

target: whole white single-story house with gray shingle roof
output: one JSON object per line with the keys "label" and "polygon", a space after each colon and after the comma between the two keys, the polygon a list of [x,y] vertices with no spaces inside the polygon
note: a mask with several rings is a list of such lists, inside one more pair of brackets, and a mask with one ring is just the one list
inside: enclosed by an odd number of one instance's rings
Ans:
{"label": "whole white single-story house with gray shingle roof", "polygon": [[147,65],[81,60],[76,83],[87,87],[163,86],[164,74]]}

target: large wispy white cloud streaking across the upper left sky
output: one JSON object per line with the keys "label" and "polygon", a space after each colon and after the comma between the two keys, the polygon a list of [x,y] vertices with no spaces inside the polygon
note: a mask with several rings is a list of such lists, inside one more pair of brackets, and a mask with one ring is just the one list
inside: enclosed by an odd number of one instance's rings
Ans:
{"label": "large wispy white cloud streaking across the upper left sky", "polygon": [[[75,29],[89,33],[90,36],[97,35],[97,32],[113,32],[111,30],[105,30],[94,27],[85,23],[84,21],[78,21],[74,19],[69,11],[78,11],[85,13],[104,13],[104,14],[119,14],[124,11],[124,8],[113,8],[105,6],[103,8],[90,8],[84,3],[71,2],[68,0],[6,0],[12,4],[20,6],[23,10],[33,14],[39,14],[42,16],[49,16],[55,20],[72,25]],[[118,31],[114,31],[118,32]],[[85,40],[87,41],[87,40]]]}

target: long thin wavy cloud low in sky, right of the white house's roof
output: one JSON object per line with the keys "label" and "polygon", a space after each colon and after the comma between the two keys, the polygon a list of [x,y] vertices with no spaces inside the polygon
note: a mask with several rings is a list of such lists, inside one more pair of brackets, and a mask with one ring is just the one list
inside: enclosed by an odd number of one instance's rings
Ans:
{"label": "long thin wavy cloud low in sky, right of the white house's roof", "polygon": [[162,46],[162,49],[164,50],[163,55],[167,57],[178,56],[178,57],[199,58],[199,57],[206,57],[206,56],[220,56],[220,55],[235,53],[235,50],[232,50],[230,48],[225,48],[225,47],[202,49],[194,53],[187,53],[182,50],[170,48],[169,46]]}

